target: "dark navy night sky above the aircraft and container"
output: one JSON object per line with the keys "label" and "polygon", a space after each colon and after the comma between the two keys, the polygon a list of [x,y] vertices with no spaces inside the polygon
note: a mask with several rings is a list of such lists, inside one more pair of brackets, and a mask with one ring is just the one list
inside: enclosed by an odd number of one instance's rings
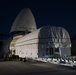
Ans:
{"label": "dark navy night sky above the aircraft and container", "polygon": [[17,14],[30,8],[36,24],[62,26],[76,34],[76,1],[73,0],[0,0],[0,33],[9,34]]}

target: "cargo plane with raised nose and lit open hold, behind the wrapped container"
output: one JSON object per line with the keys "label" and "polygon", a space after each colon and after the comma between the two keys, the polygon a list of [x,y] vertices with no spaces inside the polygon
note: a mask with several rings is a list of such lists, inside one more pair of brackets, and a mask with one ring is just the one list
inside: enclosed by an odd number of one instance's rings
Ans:
{"label": "cargo plane with raised nose and lit open hold, behind the wrapped container", "polygon": [[37,29],[34,16],[29,8],[22,9],[15,18],[10,30],[11,37],[3,43],[2,51],[14,50],[14,44],[20,37]]}

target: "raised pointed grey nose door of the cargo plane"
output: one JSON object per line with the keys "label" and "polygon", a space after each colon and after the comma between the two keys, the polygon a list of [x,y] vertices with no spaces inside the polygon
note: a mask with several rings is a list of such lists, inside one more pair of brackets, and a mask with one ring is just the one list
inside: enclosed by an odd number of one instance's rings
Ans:
{"label": "raised pointed grey nose door of the cargo plane", "polygon": [[32,32],[36,30],[34,16],[29,8],[24,8],[17,15],[10,32],[25,31]]}

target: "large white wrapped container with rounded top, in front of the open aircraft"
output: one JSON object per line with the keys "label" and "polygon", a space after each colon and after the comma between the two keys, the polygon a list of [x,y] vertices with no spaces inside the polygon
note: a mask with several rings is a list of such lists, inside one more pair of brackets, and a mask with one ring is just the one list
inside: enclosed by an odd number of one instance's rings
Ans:
{"label": "large white wrapped container with rounded top, in front of the open aircraft", "polygon": [[28,58],[70,56],[70,36],[62,27],[44,26],[18,39],[15,52],[19,57]]}

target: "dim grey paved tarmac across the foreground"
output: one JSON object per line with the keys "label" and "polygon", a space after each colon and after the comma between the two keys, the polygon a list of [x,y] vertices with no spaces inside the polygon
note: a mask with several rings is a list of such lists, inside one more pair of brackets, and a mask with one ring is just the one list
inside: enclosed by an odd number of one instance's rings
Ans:
{"label": "dim grey paved tarmac across the foreground", "polygon": [[76,70],[50,63],[0,61],[0,75],[76,75]]}

